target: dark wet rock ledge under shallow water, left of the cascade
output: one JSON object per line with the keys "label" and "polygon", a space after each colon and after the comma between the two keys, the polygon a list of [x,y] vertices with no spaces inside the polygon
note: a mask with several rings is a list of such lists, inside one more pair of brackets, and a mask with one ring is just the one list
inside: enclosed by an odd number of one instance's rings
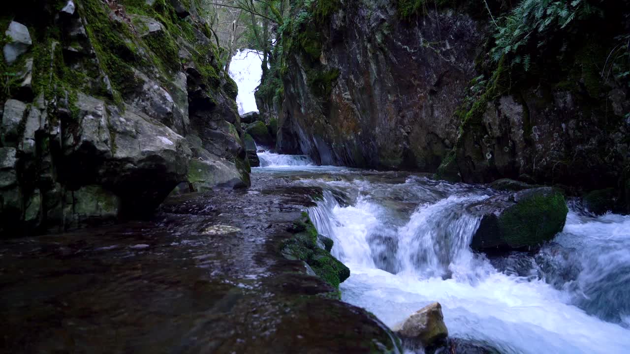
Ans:
{"label": "dark wet rock ledge under shallow water, left of the cascade", "polygon": [[384,324],[283,255],[305,245],[316,193],[253,174],[152,220],[5,241],[0,352],[396,352]]}

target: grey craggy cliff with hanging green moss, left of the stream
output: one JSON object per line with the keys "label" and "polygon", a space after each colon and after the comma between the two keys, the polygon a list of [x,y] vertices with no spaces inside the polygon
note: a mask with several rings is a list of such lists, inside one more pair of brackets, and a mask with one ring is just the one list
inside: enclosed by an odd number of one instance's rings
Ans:
{"label": "grey craggy cliff with hanging green moss, left of the stream", "polygon": [[0,21],[0,234],[249,185],[236,84],[195,1],[27,2]]}

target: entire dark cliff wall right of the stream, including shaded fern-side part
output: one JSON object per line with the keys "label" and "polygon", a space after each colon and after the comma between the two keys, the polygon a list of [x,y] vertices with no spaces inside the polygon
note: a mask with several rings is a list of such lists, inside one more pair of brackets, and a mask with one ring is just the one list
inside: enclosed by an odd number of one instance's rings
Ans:
{"label": "entire dark cliff wall right of the stream, including shaded fern-side part", "polygon": [[490,59],[496,32],[483,4],[410,13],[403,3],[297,6],[283,32],[280,151],[469,183],[612,186],[621,197],[630,97],[612,58],[626,4],[595,1],[596,15],[532,41],[524,66],[511,52]]}

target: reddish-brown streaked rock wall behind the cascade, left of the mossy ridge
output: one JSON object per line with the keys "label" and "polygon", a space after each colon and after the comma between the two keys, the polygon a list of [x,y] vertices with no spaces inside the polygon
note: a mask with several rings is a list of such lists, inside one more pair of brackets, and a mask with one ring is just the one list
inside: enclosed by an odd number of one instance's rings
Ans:
{"label": "reddish-brown streaked rock wall behind the cascade, left of the mossy ridge", "polygon": [[403,20],[390,1],[358,1],[292,26],[321,31],[294,35],[285,48],[281,151],[323,164],[437,168],[474,77],[478,22],[452,10]]}

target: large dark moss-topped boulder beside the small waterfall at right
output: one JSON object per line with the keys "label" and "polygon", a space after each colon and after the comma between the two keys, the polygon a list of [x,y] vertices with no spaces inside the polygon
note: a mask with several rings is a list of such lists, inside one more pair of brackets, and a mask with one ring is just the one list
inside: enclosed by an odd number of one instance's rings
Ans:
{"label": "large dark moss-topped boulder beside the small waterfall at right", "polygon": [[497,195],[471,208],[483,214],[471,242],[478,251],[538,246],[562,231],[569,211],[551,187]]}

